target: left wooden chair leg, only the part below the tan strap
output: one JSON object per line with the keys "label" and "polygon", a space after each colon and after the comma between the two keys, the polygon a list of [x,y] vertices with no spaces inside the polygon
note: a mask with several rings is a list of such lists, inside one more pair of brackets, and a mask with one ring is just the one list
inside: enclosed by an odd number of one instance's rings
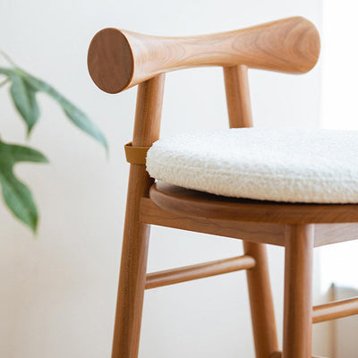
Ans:
{"label": "left wooden chair leg, only the part below the tan strap", "polygon": [[137,358],[146,283],[149,225],[139,221],[144,166],[131,165],[124,224],[121,272],[115,311],[112,358]]}

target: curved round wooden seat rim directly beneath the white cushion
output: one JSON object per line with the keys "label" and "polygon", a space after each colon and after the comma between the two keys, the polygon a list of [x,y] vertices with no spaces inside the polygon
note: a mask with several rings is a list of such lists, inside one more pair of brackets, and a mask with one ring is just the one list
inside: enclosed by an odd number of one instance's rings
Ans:
{"label": "curved round wooden seat rim directly beneath the white cushion", "polygon": [[358,205],[297,204],[235,199],[157,182],[149,191],[159,208],[177,214],[282,224],[358,222]]}

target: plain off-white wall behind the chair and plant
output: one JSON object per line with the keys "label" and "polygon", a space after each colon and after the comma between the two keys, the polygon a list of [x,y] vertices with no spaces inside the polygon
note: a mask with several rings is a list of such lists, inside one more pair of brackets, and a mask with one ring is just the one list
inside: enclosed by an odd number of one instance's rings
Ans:
{"label": "plain off-white wall behind the chair and plant", "polygon": [[[100,124],[110,157],[41,97],[41,122],[30,144],[48,166],[21,165],[41,212],[38,237],[0,206],[0,356],[109,357],[122,244],[135,89],[110,96],[90,81],[90,38],[115,26],[149,34],[234,30],[301,14],[320,28],[321,1],[45,1],[2,0],[0,46],[53,83]],[[2,64],[4,64],[4,61]],[[254,72],[255,124],[317,126],[320,68],[305,76]],[[22,141],[24,127],[1,89],[1,136]],[[197,69],[166,79],[162,134],[227,124],[222,72]],[[149,270],[236,255],[241,244],[154,227]],[[269,250],[277,322],[281,326],[283,250]],[[317,285],[316,285],[317,286]],[[279,329],[281,331],[281,328]],[[320,342],[320,340],[318,340]],[[318,352],[324,354],[323,345]],[[145,296],[141,357],[253,357],[243,273],[168,286]]]}

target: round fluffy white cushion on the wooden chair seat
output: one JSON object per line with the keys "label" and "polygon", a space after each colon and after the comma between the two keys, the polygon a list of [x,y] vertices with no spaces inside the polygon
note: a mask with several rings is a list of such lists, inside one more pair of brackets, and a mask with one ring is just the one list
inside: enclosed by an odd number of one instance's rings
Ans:
{"label": "round fluffy white cushion on the wooden chair seat", "polygon": [[358,203],[358,132],[235,128],[156,141],[151,177],[254,200]]}

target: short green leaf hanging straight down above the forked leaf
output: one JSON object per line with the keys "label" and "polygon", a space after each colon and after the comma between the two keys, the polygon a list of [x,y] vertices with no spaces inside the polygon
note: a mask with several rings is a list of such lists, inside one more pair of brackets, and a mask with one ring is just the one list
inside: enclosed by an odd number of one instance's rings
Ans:
{"label": "short green leaf hanging straight down above the forked leaf", "polygon": [[36,90],[16,72],[10,75],[10,80],[12,81],[10,93],[13,98],[13,104],[25,121],[29,135],[32,127],[38,122],[39,116]]}

